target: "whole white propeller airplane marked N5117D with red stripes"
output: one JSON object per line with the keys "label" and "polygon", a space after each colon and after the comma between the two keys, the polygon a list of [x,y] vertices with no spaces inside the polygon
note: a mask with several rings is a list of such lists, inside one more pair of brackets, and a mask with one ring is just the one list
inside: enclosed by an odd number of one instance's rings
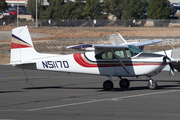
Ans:
{"label": "whole white propeller airplane marked N5117D with red stripes", "polygon": [[123,45],[86,44],[70,48],[93,47],[95,50],[70,55],[44,54],[36,52],[28,27],[24,26],[12,30],[10,64],[26,69],[108,76],[109,80],[103,83],[105,90],[113,88],[111,81],[113,76],[121,79],[119,85],[123,89],[127,89],[130,83],[122,77],[147,76],[148,87],[155,89],[157,83],[151,77],[160,73],[173,60],[166,55],[143,53],[138,47],[158,42],[162,41],[152,40]]}

